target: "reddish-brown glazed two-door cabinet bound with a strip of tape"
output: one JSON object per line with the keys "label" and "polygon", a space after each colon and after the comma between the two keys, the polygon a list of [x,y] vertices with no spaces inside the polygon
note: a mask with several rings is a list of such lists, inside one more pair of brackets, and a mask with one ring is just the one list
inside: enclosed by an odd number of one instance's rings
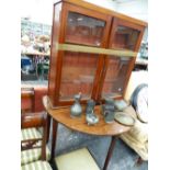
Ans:
{"label": "reddish-brown glazed two-door cabinet bound with a strip of tape", "polygon": [[48,97],[53,107],[124,98],[146,22],[84,2],[54,4]]}

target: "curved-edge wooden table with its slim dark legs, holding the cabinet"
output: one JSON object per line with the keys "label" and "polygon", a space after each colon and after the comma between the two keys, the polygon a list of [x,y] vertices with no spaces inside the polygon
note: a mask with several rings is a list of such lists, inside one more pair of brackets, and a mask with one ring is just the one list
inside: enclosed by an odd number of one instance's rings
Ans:
{"label": "curved-edge wooden table with its slim dark legs, holding the cabinet", "polygon": [[53,139],[52,139],[52,160],[55,157],[55,148],[56,148],[56,138],[57,138],[57,127],[58,123],[61,123],[63,125],[67,126],[68,128],[71,128],[73,131],[78,131],[81,133],[90,134],[90,135],[100,135],[100,136],[112,136],[112,140],[110,144],[110,148],[106,155],[105,163],[103,167],[103,170],[106,170],[109,161],[112,156],[112,151],[114,149],[115,139],[118,137],[118,135],[127,132],[131,129],[128,126],[121,125],[116,122],[112,124],[106,124],[103,120],[103,116],[101,114],[101,106],[95,106],[95,113],[100,117],[100,122],[95,126],[89,126],[86,123],[86,114],[84,114],[84,106],[83,106],[83,114],[79,118],[71,118],[70,117],[70,107],[59,107],[59,109],[53,109],[49,102],[48,97],[43,98],[44,106],[47,111],[47,113],[53,118]]}

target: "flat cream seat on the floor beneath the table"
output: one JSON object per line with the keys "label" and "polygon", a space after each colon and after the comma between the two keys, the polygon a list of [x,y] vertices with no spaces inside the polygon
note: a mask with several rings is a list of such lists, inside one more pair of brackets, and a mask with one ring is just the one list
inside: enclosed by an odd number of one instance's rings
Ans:
{"label": "flat cream seat on the floor beneath the table", "polygon": [[78,149],[55,158],[58,170],[100,170],[87,148]]}

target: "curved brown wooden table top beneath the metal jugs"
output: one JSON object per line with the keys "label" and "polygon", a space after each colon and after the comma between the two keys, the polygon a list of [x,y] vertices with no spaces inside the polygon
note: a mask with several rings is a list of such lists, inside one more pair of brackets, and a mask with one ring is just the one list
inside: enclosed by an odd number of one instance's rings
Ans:
{"label": "curved brown wooden table top beneath the metal jugs", "polygon": [[122,125],[115,121],[110,124],[105,123],[100,105],[94,109],[94,113],[99,116],[99,123],[95,125],[88,125],[86,122],[84,105],[82,106],[82,115],[80,117],[72,118],[70,117],[70,107],[52,109],[48,97],[43,98],[43,103],[48,114],[55,121],[77,132],[90,135],[114,136],[121,135],[131,129],[131,126]]}

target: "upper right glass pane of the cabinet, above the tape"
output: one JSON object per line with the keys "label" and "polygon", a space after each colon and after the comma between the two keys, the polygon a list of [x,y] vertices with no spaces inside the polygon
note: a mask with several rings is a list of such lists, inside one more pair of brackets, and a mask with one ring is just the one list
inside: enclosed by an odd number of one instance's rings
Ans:
{"label": "upper right glass pane of the cabinet, above the tape", "polygon": [[139,33],[137,30],[118,25],[111,43],[111,48],[134,50]]}

